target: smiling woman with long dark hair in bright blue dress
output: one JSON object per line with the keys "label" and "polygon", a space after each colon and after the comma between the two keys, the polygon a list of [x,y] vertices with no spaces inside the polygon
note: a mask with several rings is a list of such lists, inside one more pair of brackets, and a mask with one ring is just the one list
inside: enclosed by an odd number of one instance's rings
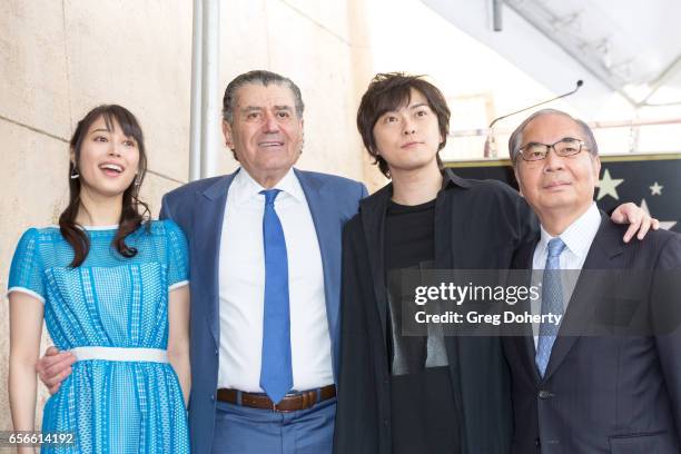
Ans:
{"label": "smiling woman with long dark hair in bright blue dress", "polygon": [[147,220],[138,199],[147,159],[137,119],[115,105],[91,110],[70,159],[59,226],[27,230],[10,269],[14,430],[33,431],[45,319],[77,362],[43,409],[43,441],[58,436],[42,452],[189,452],[187,241],[172,221]]}

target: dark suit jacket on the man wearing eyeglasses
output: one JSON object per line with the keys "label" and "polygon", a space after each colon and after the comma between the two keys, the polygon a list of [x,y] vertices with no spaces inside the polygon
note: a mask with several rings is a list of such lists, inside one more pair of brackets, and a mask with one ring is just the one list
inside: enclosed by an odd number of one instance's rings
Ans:
{"label": "dark suit jacket on the man wearing eyeglasses", "polygon": [[[660,270],[679,268],[681,277],[681,236],[651,231],[642,241],[624,244],[625,228],[602,216],[544,378],[534,363],[533,337],[504,338],[512,377],[513,453],[680,452],[681,332],[653,333],[661,306],[652,295]],[[519,251],[516,268],[532,268],[537,241]],[[629,270],[636,285],[618,284],[615,273],[609,278],[594,272],[606,269]],[[631,287],[626,292],[633,299],[622,295],[625,287]],[[603,307],[613,315],[613,308],[622,310],[626,304],[640,309],[639,318],[642,314],[651,328],[647,334],[594,335]]]}

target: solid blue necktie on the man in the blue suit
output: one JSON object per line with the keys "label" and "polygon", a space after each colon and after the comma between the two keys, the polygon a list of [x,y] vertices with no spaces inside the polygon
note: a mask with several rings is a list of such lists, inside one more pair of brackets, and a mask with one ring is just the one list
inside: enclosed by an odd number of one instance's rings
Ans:
{"label": "solid blue necktie on the man in the blue suit", "polygon": [[293,387],[290,366],[290,316],[288,308],[288,263],[284,229],[274,208],[279,189],[265,195],[263,246],[265,249],[265,310],[260,387],[275,404]]}

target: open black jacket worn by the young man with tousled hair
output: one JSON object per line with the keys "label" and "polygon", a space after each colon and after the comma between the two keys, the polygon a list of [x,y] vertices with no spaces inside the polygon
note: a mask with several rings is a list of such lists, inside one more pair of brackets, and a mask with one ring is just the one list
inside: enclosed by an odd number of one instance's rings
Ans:
{"label": "open black jacket worn by the young man with tousled hair", "polygon": [[[343,236],[340,375],[336,453],[392,452],[386,349],[384,221],[388,185],[361,201]],[[499,181],[466,180],[445,170],[435,203],[435,266],[507,269],[537,224],[519,194]],[[499,337],[446,337],[462,453],[507,453],[509,369]]]}

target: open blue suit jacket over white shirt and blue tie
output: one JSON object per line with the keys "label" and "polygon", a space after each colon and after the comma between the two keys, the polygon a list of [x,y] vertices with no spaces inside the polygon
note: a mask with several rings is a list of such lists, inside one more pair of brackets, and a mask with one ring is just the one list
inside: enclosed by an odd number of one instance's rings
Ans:
{"label": "open blue suit jacket over white shirt and blue tie", "polygon": [[[189,182],[164,196],[160,217],[175,220],[189,240],[191,289],[191,451],[210,452],[218,376],[218,264],[227,191],[234,174]],[[294,169],[307,199],[324,268],[326,314],[334,377],[340,346],[340,239],[343,225],[357,213],[364,185],[346,178]],[[254,226],[256,227],[256,226]]]}

